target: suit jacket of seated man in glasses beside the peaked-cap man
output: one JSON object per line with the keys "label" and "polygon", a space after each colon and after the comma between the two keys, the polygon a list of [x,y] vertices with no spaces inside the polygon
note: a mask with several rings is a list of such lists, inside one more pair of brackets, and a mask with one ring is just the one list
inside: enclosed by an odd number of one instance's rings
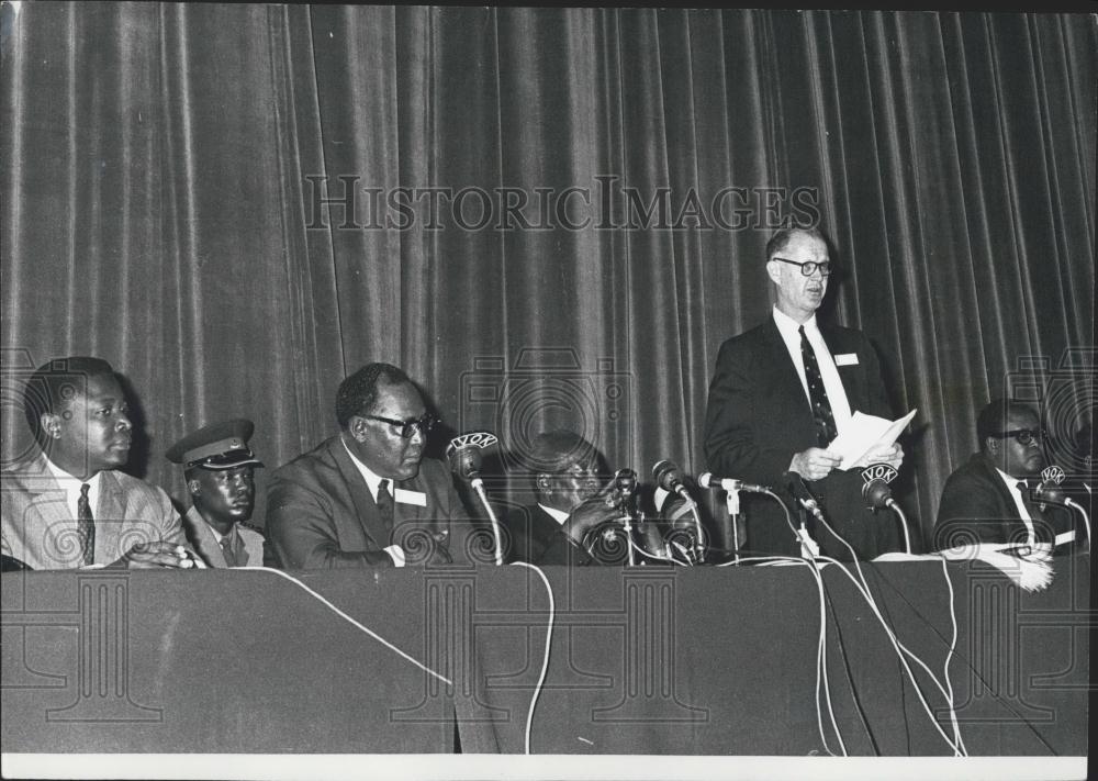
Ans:
{"label": "suit jacket of seated man in glasses beside the peaked-cap man", "polygon": [[390,531],[338,435],[280,467],[268,487],[267,533],[282,566],[388,566],[386,554],[363,554],[390,545],[404,548],[408,565],[423,564],[433,547],[441,547],[453,561],[471,560],[469,514],[440,461],[423,459],[419,473],[394,488],[423,494],[426,506],[394,501]]}

